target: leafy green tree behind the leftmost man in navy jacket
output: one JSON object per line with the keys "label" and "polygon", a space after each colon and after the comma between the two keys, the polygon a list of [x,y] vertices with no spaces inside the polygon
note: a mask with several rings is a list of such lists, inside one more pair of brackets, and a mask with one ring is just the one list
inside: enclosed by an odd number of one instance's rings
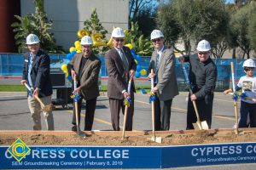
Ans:
{"label": "leafy green tree behind the leftmost man in navy jacket", "polygon": [[44,12],[44,0],[34,0],[35,13],[26,14],[24,17],[15,15],[19,22],[13,23],[16,44],[19,52],[26,48],[25,38],[28,34],[34,33],[40,39],[40,47],[48,53],[64,53],[60,46],[55,43],[53,33],[49,32],[52,27],[52,20],[48,20]]}

